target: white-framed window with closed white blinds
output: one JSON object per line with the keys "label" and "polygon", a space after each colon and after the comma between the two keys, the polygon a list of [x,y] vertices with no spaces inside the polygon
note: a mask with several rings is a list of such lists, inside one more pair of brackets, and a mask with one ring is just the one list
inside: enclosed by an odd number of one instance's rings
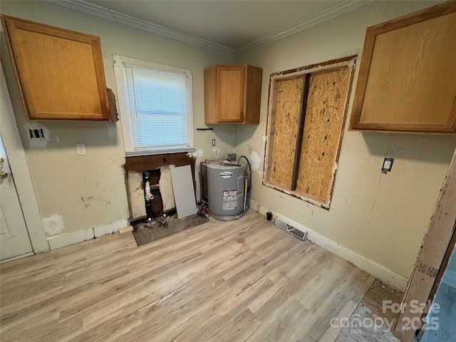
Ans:
{"label": "white-framed window with closed white blinds", "polygon": [[193,147],[192,71],[114,56],[127,155]]}

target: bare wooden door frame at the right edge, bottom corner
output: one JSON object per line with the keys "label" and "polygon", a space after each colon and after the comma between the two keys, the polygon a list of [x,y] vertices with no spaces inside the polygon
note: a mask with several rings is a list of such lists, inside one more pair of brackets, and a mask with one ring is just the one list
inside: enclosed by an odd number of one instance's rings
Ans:
{"label": "bare wooden door frame at the right edge, bottom corner", "polygon": [[[445,255],[454,244],[452,237],[455,234],[455,223],[456,150],[442,190],[440,190],[434,214],[430,219],[429,229],[423,239],[415,269],[405,290],[402,310],[395,325],[395,336],[404,342],[412,341],[415,332],[419,330],[415,327],[426,316],[426,309],[429,309],[428,301],[432,302],[434,299],[435,289],[446,268]],[[423,307],[424,310],[417,309],[417,305],[420,308]]]}

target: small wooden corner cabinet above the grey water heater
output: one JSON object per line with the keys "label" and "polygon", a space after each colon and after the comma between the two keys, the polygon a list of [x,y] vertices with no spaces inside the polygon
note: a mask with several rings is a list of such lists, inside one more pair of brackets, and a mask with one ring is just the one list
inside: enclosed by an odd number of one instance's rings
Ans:
{"label": "small wooden corner cabinet above the grey water heater", "polygon": [[261,73],[248,64],[204,70],[204,123],[259,123]]}

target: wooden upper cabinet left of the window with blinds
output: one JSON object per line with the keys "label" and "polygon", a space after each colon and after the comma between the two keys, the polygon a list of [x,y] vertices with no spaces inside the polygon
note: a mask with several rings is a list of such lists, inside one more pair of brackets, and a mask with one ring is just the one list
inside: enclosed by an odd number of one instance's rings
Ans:
{"label": "wooden upper cabinet left of the window with blinds", "polygon": [[100,38],[1,16],[28,120],[116,120]]}

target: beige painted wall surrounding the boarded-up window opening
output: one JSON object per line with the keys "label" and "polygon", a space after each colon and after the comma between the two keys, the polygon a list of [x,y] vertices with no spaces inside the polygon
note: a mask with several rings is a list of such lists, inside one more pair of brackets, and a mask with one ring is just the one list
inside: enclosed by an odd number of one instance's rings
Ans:
{"label": "beige painted wall surrounding the boarded-up window opening", "polygon": [[[373,1],[330,21],[238,56],[263,68],[261,123],[237,127],[237,154],[254,172],[252,199],[397,274],[410,277],[445,179],[455,137],[346,132],[327,211],[261,185],[269,75],[334,58],[361,57],[366,28],[437,4],[434,1]],[[351,94],[348,118],[353,103]],[[392,172],[380,172],[384,157]]]}

